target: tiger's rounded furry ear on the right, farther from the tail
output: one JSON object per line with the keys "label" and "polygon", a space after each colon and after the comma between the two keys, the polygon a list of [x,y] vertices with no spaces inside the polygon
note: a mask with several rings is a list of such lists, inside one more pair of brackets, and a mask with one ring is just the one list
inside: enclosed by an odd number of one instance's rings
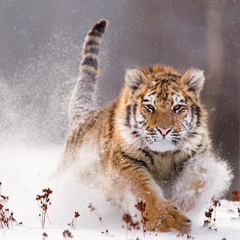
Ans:
{"label": "tiger's rounded furry ear on the right, farther from the tail", "polygon": [[199,98],[200,92],[204,84],[204,74],[202,70],[190,69],[182,77],[181,82],[187,91],[193,92]]}

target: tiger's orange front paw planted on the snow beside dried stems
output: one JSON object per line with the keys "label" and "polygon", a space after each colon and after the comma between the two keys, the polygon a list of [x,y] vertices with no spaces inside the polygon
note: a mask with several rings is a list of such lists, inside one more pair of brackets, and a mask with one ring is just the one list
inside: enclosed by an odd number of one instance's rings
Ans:
{"label": "tiger's orange front paw planted on the snow beside dried stems", "polygon": [[191,220],[171,203],[161,204],[156,211],[151,211],[151,216],[146,218],[147,231],[169,232],[175,229],[180,233],[188,233],[191,230]]}

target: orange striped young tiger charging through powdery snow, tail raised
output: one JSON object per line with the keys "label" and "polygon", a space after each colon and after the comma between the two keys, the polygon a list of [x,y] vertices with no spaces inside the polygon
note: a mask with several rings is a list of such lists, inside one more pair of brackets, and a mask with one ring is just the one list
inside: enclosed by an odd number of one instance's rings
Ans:
{"label": "orange striped young tiger charging through powdery snow, tail raised", "polygon": [[129,68],[119,97],[97,107],[107,26],[105,19],[95,23],[83,44],[59,172],[74,169],[79,181],[96,184],[108,200],[131,195],[144,203],[146,231],[188,233],[187,214],[226,192],[232,179],[228,164],[213,153],[200,101],[204,73],[191,68],[181,74],[160,64]]}

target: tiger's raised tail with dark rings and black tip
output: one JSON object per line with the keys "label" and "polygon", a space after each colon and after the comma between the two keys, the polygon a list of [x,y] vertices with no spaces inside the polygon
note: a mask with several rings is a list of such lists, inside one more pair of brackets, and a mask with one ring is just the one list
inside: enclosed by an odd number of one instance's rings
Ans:
{"label": "tiger's raised tail with dark rings and black tip", "polygon": [[84,119],[84,116],[94,108],[99,73],[99,45],[107,25],[107,20],[100,20],[86,36],[82,50],[82,61],[79,66],[79,76],[69,104],[70,126]]}

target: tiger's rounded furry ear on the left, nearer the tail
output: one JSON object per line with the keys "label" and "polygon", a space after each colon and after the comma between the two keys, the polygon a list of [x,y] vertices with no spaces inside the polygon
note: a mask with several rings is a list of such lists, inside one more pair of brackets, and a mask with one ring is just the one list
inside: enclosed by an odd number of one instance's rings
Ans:
{"label": "tiger's rounded furry ear on the left, nearer the tail", "polygon": [[125,83],[132,90],[136,91],[146,81],[146,75],[137,68],[128,69],[125,75]]}

